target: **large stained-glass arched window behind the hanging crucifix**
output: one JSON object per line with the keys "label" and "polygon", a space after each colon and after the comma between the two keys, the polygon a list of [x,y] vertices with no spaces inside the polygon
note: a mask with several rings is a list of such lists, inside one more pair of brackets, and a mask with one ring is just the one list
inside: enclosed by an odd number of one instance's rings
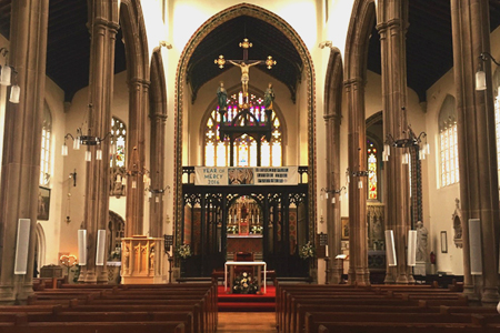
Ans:
{"label": "large stained-glass arched window behind the hanging crucifix", "polygon": [[[228,121],[232,121],[238,115],[239,100],[242,99],[242,92],[232,94],[228,100]],[[249,111],[258,121],[266,120],[263,99],[250,94]],[[207,167],[227,167],[230,158],[230,140],[223,141],[219,137],[220,114],[219,107],[212,110],[207,120],[204,129],[204,165]],[[244,120],[241,119],[243,122]],[[251,124],[253,119],[248,119]],[[261,143],[261,165],[281,167],[282,165],[282,130],[281,122],[274,111],[271,114],[272,135],[270,142],[262,139]],[[242,134],[234,140],[234,165],[236,167],[257,167],[257,142],[247,134]]]}

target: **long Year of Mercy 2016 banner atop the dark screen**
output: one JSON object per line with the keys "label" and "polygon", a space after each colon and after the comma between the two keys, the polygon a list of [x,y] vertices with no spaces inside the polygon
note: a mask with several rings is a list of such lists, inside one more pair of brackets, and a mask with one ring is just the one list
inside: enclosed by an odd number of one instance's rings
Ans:
{"label": "long Year of Mercy 2016 banner atop the dark screen", "polygon": [[298,167],[194,167],[196,185],[297,185]]}

